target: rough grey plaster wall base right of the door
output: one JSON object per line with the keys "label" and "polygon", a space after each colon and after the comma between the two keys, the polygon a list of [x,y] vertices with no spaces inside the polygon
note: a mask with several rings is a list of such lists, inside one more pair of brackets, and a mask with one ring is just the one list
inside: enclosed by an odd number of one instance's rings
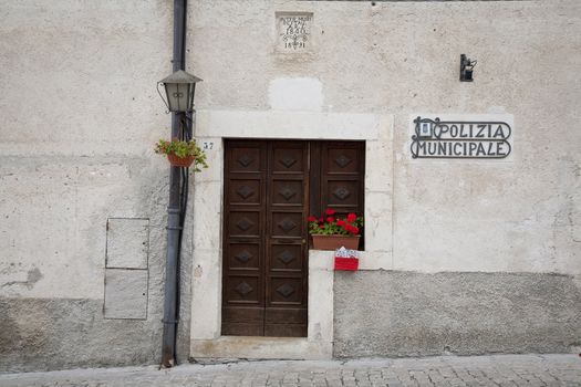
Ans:
{"label": "rough grey plaster wall base right of the door", "polygon": [[335,274],[336,357],[569,353],[581,290],[568,275]]}

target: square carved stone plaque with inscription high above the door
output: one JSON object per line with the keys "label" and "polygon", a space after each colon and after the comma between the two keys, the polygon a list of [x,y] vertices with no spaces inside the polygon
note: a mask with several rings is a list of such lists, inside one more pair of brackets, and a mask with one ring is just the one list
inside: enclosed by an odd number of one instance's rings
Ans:
{"label": "square carved stone plaque with inscription high above the door", "polygon": [[311,49],[312,13],[277,13],[277,50],[305,52]]}

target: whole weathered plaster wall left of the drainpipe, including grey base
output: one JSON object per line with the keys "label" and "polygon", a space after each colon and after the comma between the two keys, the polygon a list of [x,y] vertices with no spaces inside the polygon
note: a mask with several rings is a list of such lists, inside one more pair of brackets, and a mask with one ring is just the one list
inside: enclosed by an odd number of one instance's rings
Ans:
{"label": "whole weathered plaster wall left of the drainpipe, including grey base", "polygon": [[[172,2],[4,1],[0,20],[0,370],[158,362]],[[148,219],[145,320],[104,318],[108,218]]]}

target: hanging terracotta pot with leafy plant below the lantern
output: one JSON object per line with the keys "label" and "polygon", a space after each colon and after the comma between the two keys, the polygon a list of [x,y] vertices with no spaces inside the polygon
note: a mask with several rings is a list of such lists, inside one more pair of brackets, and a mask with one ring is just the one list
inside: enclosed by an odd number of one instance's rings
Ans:
{"label": "hanging terracotta pot with leafy plant below the lantern", "polygon": [[189,168],[194,165],[195,171],[199,172],[200,168],[208,168],[206,163],[206,154],[195,139],[183,140],[174,138],[170,142],[160,139],[155,145],[155,153],[167,155],[169,164],[174,167]]}

